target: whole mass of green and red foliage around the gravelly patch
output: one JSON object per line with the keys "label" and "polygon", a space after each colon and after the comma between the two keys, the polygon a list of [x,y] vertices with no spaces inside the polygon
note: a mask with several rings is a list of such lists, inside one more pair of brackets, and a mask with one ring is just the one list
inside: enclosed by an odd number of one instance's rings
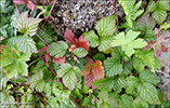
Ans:
{"label": "whole mass of green and red foliage around the gravelly patch", "polygon": [[[95,30],[83,32],[79,39],[69,28],[63,38],[57,36],[42,18],[30,17],[29,11],[16,17],[16,36],[15,30],[3,31],[3,25],[1,107],[169,108],[170,102],[164,100],[155,86],[160,81],[155,73],[161,67],[160,54],[168,51],[162,42],[168,39],[155,26],[161,26],[167,17],[156,16],[157,11],[166,12],[169,9],[164,5],[170,2],[151,1],[147,10],[139,10],[142,1],[119,1],[127,15],[121,25],[126,30],[120,32],[117,14],[103,17]],[[21,3],[32,11],[37,8],[31,8],[30,1],[13,2],[16,9]],[[14,4],[1,5],[5,13]]]}

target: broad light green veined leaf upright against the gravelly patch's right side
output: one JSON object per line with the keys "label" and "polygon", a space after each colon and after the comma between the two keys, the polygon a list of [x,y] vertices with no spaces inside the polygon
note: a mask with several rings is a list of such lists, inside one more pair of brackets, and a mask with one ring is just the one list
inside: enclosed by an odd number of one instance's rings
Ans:
{"label": "broad light green veined leaf upright against the gravelly patch's right side", "polygon": [[116,31],[116,16],[103,17],[96,23],[96,30],[100,37],[114,35]]}

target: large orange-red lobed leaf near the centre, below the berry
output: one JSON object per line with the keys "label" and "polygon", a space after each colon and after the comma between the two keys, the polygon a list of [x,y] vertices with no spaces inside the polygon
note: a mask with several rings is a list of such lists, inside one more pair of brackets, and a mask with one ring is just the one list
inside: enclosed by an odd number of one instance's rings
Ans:
{"label": "large orange-red lobed leaf near the centre, below the berry", "polygon": [[84,66],[84,70],[82,72],[86,76],[86,84],[92,89],[96,89],[91,83],[104,78],[104,67],[101,60],[93,62],[92,58],[87,57],[88,64]]}

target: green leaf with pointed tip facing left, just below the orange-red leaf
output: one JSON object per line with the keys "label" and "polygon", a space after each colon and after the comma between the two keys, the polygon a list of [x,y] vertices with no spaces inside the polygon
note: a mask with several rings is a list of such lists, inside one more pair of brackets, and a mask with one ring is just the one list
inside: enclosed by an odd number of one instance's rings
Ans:
{"label": "green leaf with pointed tip facing left, just below the orange-red leaf", "polygon": [[92,82],[92,84],[100,90],[112,90],[114,87],[114,79],[113,78],[104,78],[102,80],[96,80]]}

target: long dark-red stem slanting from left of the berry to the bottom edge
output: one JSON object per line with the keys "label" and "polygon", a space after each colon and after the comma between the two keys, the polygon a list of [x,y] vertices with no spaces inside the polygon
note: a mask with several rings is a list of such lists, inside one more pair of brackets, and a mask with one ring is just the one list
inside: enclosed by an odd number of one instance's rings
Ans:
{"label": "long dark-red stem slanting from left of the berry to the bottom edge", "polygon": [[[38,55],[39,55],[39,57],[41,58],[41,60],[45,64],[45,62],[44,62],[44,59],[42,58],[42,56],[41,56],[39,53],[38,53]],[[45,64],[45,65],[47,65],[47,64]],[[58,78],[58,76],[54,72],[54,70],[53,70],[50,66],[48,66],[48,68],[54,73],[54,76],[57,78],[57,80],[63,84],[64,89],[67,90],[67,87],[64,85],[63,81]],[[71,97],[71,95],[69,95],[69,97],[70,97],[71,102],[75,104],[75,106],[76,106],[77,108],[79,108],[78,105],[76,104],[76,102],[74,100],[74,98]]]}

